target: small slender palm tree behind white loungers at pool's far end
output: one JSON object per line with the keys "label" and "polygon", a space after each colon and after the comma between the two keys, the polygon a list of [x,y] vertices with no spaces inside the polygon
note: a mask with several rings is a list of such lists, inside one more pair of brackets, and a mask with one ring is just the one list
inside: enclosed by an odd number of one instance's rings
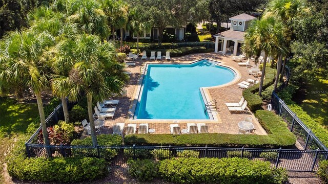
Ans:
{"label": "small slender palm tree behind white loungers at pool's far end", "polygon": [[151,29],[151,20],[142,11],[141,7],[136,7],[129,12],[131,17],[129,26],[132,28],[133,33],[137,35],[137,54],[139,53],[139,35]]}

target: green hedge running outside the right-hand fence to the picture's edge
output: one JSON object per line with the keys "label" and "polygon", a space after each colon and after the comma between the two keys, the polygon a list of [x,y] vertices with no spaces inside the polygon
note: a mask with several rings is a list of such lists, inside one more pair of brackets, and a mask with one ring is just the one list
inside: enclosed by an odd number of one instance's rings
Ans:
{"label": "green hedge running outside the right-hand fence to the picture's edge", "polygon": [[318,137],[318,139],[328,147],[328,130],[324,129],[319,123],[314,121],[311,116],[306,113],[301,106],[292,101],[292,96],[295,93],[297,87],[288,85],[278,93],[288,107],[296,113],[297,117]]}

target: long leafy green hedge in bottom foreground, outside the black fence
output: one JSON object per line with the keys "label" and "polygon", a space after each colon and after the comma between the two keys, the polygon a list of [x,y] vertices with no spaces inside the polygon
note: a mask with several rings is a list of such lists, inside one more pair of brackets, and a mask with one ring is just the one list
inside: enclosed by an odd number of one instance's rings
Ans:
{"label": "long leafy green hedge in bottom foreground, outside the black fence", "polygon": [[269,162],[247,158],[175,158],[162,160],[159,174],[174,183],[283,183],[286,172]]}

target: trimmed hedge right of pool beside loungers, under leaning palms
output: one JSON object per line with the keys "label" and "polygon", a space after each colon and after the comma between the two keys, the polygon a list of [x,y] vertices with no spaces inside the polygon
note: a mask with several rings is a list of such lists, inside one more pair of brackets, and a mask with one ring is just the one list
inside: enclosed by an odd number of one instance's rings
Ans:
{"label": "trimmed hedge right of pool beside loungers, under leaning palms", "polygon": [[[265,80],[263,81],[263,90],[273,84],[275,80],[276,70],[270,67],[267,67],[265,70]],[[255,112],[256,110],[262,108],[262,98],[255,93],[258,92],[260,83],[253,85],[242,91],[242,96],[248,102],[248,107]]]}

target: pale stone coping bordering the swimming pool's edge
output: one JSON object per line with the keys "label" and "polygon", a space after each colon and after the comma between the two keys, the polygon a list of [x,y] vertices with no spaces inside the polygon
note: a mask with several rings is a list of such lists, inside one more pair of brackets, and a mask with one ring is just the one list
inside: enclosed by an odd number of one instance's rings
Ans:
{"label": "pale stone coping bordering the swimming pool's edge", "polygon": [[[138,81],[137,81],[138,86],[134,90],[134,93],[133,93],[134,98],[132,99],[131,105],[129,106],[127,123],[145,123],[145,122],[146,123],[198,123],[198,122],[202,122],[202,123],[222,123],[218,112],[215,111],[215,110],[208,110],[209,116],[211,114],[213,119],[133,119],[134,112],[136,110],[137,102],[141,98],[140,93],[141,93],[142,87],[143,87],[142,86],[142,80],[144,79],[144,76],[147,74],[147,70],[145,70],[145,68],[147,68],[148,64],[185,64],[185,65],[189,65],[189,64],[193,64],[195,62],[201,61],[203,59],[208,59],[210,61],[216,62],[217,65],[219,65],[219,66],[227,67],[230,70],[232,70],[235,74],[234,79],[232,81],[226,83],[226,84],[217,85],[217,86],[210,86],[210,87],[200,87],[199,89],[203,91],[202,98],[203,98],[204,103],[205,102],[210,102],[210,101],[213,100],[208,89],[229,86],[229,85],[232,85],[232,84],[234,84],[234,83],[236,83],[237,81],[240,80],[241,73],[236,68],[224,64],[226,62],[218,61],[218,60],[213,59],[213,58],[202,58],[202,59],[197,59],[197,60],[191,61],[191,62],[179,62],[179,63],[158,62],[158,61],[145,62],[144,64],[142,64],[140,66],[140,76],[139,76]],[[142,73],[141,73],[141,68],[144,68],[144,72],[142,72]]]}

